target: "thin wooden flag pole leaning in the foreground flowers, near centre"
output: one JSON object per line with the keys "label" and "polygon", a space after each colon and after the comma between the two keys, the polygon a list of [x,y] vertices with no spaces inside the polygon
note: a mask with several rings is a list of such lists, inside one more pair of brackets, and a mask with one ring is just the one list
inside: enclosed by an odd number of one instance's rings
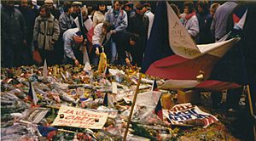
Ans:
{"label": "thin wooden flag pole leaning in the foreground flowers, near centre", "polygon": [[124,135],[124,138],[123,138],[124,141],[126,140],[127,133],[128,133],[128,130],[129,130],[129,126],[130,126],[130,123],[131,123],[131,116],[132,116],[132,112],[133,112],[133,109],[134,109],[134,106],[135,106],[135,103],[136,103],[137,93],[138,93],[138,91],[139,91],[139,87],[140,87],[140,84],[141,84],[142,77],[143,77],[143,74],[140,73],[139,79],[138,79],[138,81],[137,81],[136,91],[135,91],[135,93],[134,93],[134,97],[133,97],[132,104],[131,104],[130,115],[129,115],[129,118],[128,118],[128,121],[127,121],[127,125],[126,125],[126,127],[125,127],[125,135]]}

